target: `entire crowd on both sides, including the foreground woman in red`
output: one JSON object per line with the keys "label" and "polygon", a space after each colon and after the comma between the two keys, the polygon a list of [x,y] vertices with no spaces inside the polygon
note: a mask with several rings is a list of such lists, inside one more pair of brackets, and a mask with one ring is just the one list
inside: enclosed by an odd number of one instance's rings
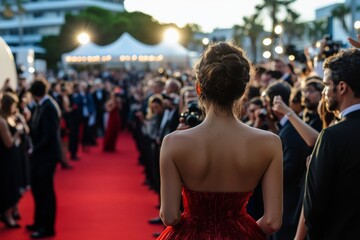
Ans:
{"label": "entire crowd on both sides, including the foreground woman in red", "polygon": [[[20,227],[17,204],[31,188],[27,229],[33,238],[54,235],[56,164],[71,169],[79,148],[98,138],[114,152],[126,130],[144,184],[158,195],[161,218],[149,223],[168,226],[154,233],[159,239],[351,239],[360,211],[359,70],[357,49],[327,57],[319,72],[311,61],[252,64],[221,42],[195,71],[19,78],[0,97],[1,220]],[[346,206],[342,189],[351,194]]]}

